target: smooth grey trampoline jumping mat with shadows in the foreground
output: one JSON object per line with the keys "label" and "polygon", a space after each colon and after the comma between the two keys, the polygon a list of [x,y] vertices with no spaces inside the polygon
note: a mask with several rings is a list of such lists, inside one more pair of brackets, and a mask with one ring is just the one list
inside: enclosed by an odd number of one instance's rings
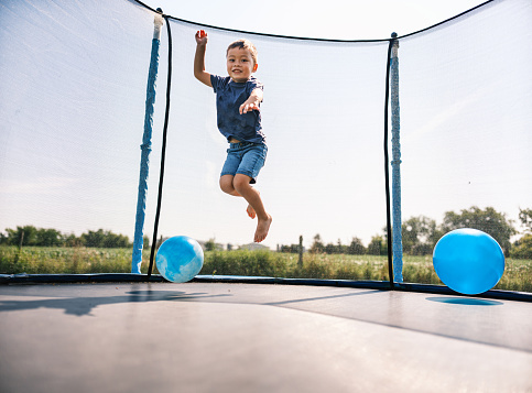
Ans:
{"label": "smooth grey trampoline jumping mat with shadows in the foreground", "polygon": [[532,304],[229,283],[0,285],[0,392],[532,392]]}

